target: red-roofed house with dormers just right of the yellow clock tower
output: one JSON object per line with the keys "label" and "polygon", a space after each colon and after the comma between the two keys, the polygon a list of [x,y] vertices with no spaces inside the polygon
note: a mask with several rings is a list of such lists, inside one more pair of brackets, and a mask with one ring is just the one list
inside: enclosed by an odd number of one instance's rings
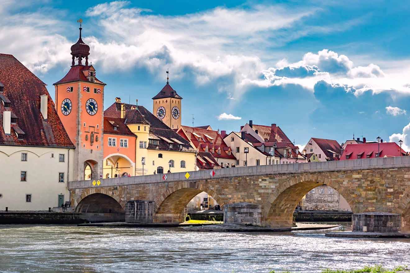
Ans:
{"label": "red-roofed house with dormers just right of the yellow clock tower", "polygon": [[236,164],[232,149],[225,144],[222,135],[218,131],[213,131],[210,126],[181,125],[177,132],[198,151],[196,157],[198,169],[229,168],[232,164]]}

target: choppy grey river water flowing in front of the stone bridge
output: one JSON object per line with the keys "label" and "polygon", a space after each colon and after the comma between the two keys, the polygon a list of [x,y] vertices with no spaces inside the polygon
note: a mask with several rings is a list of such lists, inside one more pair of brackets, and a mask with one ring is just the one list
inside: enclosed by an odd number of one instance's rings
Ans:
{"label": "choppy grey river water flowing in front of the stone bridge", "polygon": [[337,239],[323,231],[0,226],[0,272],[320,272],[410,265],[410,239]]}

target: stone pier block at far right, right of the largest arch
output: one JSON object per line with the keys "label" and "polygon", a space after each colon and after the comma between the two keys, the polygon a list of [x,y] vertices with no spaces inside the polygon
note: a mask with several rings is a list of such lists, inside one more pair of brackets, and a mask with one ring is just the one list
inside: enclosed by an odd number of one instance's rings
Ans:
{"label": "stone pier block at far right, right of the largest arch", "polygon": [[401,215],[388,212],[355,213],[352,216],[354,232],[398,232]]}

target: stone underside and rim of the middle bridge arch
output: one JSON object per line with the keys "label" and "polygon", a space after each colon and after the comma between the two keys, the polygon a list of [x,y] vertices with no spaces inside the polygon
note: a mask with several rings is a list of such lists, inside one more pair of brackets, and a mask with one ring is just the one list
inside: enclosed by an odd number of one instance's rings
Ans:
{"label": "stone underside and rim of the middle bridge arch", "polygon": [[155,201],[155,222],[180,223],[183,221],[183,212],[187,204],[197,194],[206,192],[222,207],[226,201],[219,197],[206,183],[182,182],[169,187]]}

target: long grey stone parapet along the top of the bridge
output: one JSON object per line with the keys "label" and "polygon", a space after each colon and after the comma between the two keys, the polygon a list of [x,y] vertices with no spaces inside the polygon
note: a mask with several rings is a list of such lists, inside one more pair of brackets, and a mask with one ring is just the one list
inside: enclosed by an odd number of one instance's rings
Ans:
{"label": "long grey stone parapet along the top of the bridge", "polygon": [[[144,183],[167,183],[181,180],[198,179],[218,179],[223,177],[251,176],[263,174],[283,174],[283,173],[306,173],[318,171],[339,171],[339,170],[359,170],[359,169],[384,169],[395,167],[410,167],[410,156],[397,156],[386,158],[363,158],[356,160],[339,160],[327,162],[309,162],[295,164],[262,165],[249,167],[235,167],[212,170],[188,171],[170,174],[152,174],[144,176],[100,178],[100,184],[93,185],[93,180],[71,181],[68,183],[69,189],[80,189],[89,187],[107,187],[118,185],[134,185]],[[185,175],[189,173],[189,178]],[[166,179],[164,180],[164,175]],[[97,179],[96,179],[97,180]],[[97,182],[97,181],[96,181]]]}

